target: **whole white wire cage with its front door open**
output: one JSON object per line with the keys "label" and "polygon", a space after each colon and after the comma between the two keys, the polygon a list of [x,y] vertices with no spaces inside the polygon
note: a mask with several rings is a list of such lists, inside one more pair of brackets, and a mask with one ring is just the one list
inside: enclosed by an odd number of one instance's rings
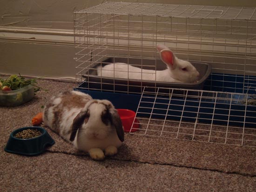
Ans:
{"label": "whole white wire cage with its front door open", "polygon": [[[162,70],[157,44],[210,64],[203,86],[98,75],[98,66],[116,62]],[[141,95],[134,134],[256,146],[255,7],[105,2],[74,12],[74,46],[79,90]]]}

